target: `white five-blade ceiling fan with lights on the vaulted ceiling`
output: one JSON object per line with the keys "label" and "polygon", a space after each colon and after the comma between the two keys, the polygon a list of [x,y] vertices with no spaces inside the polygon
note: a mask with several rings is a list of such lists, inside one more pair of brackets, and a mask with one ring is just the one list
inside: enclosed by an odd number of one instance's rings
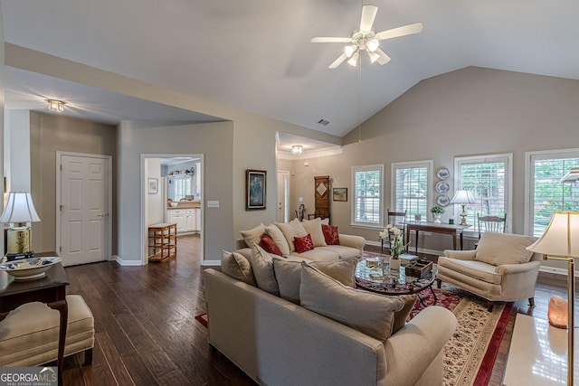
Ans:
{"label": "white five-blade ceiling fan with lights on the vaulted ceiling", "polygon": [[410,35],[413,33],[420,33],[422,31],[422,23],[414,23],[404,25],[402,27],[393,28],[391,30],[375,33],[372,28],[378,7],[375,5],[364,5],[362,7],[362,17],[360,19],[360,28],[354,30],[352,36],[349,38],[340,37],[315,37],[311,42],[346,42],[344,53],[342,53],[336,61],[332,62],[327,68],[335,69],[337,66],[346,61],[351,66],[356,66],[360,52],[368,52],[370,62],[377,61],[380,64],[386,64],[390,61],[390,57],[380,50],[380,41],[385,39],[392,39],[399,36]]}

